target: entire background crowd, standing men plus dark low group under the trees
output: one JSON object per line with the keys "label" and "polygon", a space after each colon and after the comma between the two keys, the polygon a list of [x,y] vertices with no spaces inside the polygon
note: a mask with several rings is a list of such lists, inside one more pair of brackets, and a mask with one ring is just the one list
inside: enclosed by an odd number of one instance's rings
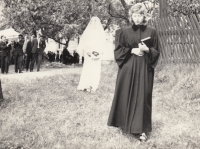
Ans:
{"label": "entire background crowd, standing men plus dark low group under the trees", "polygon": [[[34,64],[37,71],[40,71],[41,63],[46,59],[49,62],[59,62],[65,65],[79,63],[79,54],[74,50],[71,54],[67,47],[63,47],[63,51],[48,51],[45,53],[46,42],[45,37],[41,34],[20,34],[17,41],[9,41],[6,36],[1,36],[0,41],[0,68],[2,74],[9,72],[9,66],[15,66],[16,73],[33,72]],[[82,57],[82,63],[84,57]]]}

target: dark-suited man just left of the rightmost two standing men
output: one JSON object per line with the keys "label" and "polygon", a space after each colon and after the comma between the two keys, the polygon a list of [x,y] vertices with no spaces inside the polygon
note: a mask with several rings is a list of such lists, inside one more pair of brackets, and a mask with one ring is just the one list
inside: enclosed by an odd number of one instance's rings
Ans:
{"label": "dark-suited man just left of the rightmost two standing men", "polygon": [[32,57],[32,53],[31,53],[32,43],[31,43],[29,35],[26,35],[25,41],[26,41],[26,44],[24,44],[24,46],[23,46],[23,51],[26,56],[26,66],[25,67],[26,67],[26,71],[28,71],[29,65],[31,62],[31,57]]}

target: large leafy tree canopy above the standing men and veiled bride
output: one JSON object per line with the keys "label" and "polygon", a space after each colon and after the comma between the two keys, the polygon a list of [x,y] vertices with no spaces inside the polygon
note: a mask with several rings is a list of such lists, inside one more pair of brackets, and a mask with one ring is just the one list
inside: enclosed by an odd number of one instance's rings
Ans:
{"label": "large leafy tree canopy above the standing men and veiled bride", "polygon": [[4,3],[7,25],[22,33],[41,30],[57,42],[61,38],[68,42],[82,34],[92,16],[98,16],[105,28],[110,22],[104,9],[106,0],[4,0]]}

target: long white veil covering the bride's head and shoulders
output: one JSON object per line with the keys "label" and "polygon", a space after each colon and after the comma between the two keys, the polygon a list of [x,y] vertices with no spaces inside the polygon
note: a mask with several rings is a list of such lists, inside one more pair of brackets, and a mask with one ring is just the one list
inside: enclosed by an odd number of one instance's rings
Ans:
{"label": "long white veil covering the bride's head and shoulders", "polygon": [[80,55],[92,51],[102,53],[105,41],[106,36],[100,19],[92,17],[80,38],[77,51]]}

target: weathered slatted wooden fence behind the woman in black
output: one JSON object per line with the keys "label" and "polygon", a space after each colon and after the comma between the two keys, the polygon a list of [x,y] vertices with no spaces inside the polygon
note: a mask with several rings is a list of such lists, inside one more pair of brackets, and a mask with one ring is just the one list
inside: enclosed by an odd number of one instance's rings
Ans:
{"label": "weathered slatted wooden fence behind the woman in black", "polygon": [[158,31],[164,63],[200,63],[200,15],[166,17],[149,22]]}

